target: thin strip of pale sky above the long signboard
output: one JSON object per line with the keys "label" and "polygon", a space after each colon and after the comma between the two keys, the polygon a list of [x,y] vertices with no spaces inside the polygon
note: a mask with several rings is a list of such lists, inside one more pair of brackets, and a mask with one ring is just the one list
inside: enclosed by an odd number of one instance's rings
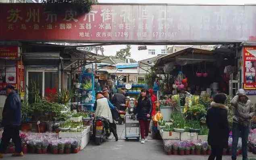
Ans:
{"label": "thin strip of pale sky above the long signboard", "polygon": [[256,0],[98,0],[100,3],[256,4]]}

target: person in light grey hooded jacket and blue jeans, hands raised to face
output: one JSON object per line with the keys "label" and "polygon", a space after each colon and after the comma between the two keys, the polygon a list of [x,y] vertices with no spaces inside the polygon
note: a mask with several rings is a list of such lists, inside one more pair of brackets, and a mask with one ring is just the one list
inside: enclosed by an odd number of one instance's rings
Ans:
{"label": "person in light grey hooded jacket and blue jeans, hands raised to face", "polygon": [[232,127],[232,160],[237,158],[237,143],[239,135],[242,138],[243,160],[248,160],[248,135],[250,132],[251,119],[255,114],[254,106],[246,96],[244,89],[239,89],[237,95],[231,100],[231,105],[235,107]]}

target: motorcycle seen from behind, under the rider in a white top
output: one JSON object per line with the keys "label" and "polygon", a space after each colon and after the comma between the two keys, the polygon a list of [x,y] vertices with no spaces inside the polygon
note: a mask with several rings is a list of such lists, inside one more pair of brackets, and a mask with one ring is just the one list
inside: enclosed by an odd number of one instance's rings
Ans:
{"label": "motorcycle seen from behind, under the rider in a white top", "polygon": [[110,136],[109,122],[106,118],[98,116],[94,120],[94,137],[96,145],[100,145]]}

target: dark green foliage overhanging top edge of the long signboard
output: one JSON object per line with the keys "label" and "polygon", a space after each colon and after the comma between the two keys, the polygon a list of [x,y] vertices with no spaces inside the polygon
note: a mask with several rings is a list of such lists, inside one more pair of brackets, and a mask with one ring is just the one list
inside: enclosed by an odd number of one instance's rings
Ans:
{"label": "dark green foliage overhanging top edge of the long signboard", "polygon": [[[65,13],[66,10],[72,9],[77,14],[87,13],[92,9],[92,5],[98,3],[97,0],[43,0],[46,11]],[[75,13],[71,13],[74,14]]]}

